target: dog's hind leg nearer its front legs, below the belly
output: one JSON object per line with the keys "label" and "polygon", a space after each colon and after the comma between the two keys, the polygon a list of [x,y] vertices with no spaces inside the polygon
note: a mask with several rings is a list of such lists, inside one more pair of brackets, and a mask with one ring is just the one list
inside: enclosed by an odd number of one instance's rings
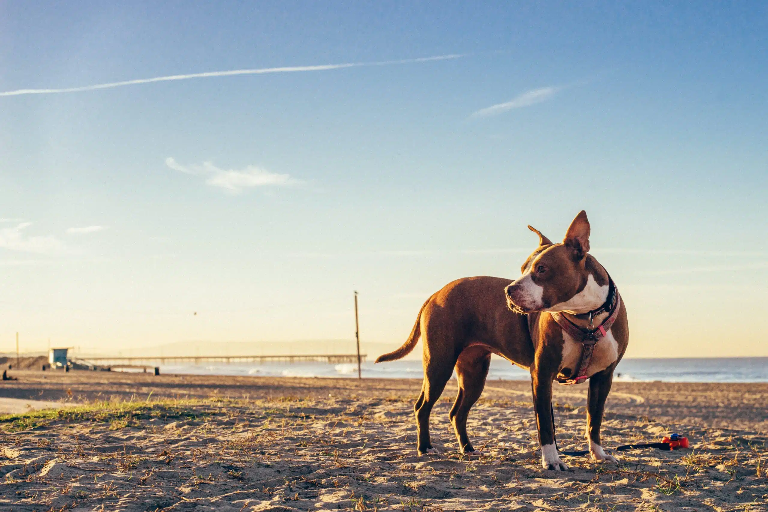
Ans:
{"label": "dog's hind leg nearer its front legs, below the belly", "polygon": [[478,401],[485,388],[485,378],[491,365],[491,352],[487,348],[475,346],[465,348],[456,362],[458,377],[458,394],[449,417],[456,432],[458,448],[462,454],[479,454],[472,448],[467,435],[467,416],[469,409]]}

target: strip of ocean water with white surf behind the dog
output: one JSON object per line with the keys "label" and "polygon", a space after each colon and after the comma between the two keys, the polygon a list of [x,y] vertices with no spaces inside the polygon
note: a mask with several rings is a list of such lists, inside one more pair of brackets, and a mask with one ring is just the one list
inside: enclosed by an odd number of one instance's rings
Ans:
{"label": "strip of ocean water with white surf behind the dog", "polygon": [[[264,375],[276,377],[356,378],[357,365],[326,363],[201,364],[161,366],[161,373],[193,375]],[[422,378],[421,361],[362,364],[363,378]],[[530,380],[526,370],[493,358],[488,380]],[[624,359],[617,382],[768,382],[768,358]]]}

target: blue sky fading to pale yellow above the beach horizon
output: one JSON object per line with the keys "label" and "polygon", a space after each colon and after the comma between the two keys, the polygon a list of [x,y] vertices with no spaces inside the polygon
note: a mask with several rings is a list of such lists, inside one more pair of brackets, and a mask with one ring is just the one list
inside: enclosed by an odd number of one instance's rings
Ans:
{"label": "blue sky fading to pale yellow above the beach horizon", "polygon": [[768,355],[766,29],[760,2],[2,2],[0,349],[349,338],[354,289],[399,344],[585,209],[629,355]]}

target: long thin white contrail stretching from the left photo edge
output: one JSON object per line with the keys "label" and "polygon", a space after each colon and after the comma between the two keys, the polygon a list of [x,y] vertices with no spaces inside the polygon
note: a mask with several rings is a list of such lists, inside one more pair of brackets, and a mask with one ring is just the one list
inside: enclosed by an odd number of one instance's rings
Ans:
{"label": "long thin white contrail stretching from the left photo edge", "polygon": [[0,96],[21,96],[22,94],[59,94],[65,92],[96,91],[97,89],[111,89],[124,87],[125,85],[151,84],[153,82],[167,82],[174,80],[189,80],[190,78],[229,77],[236,74],[267,74],[267,73],[296,73],[298,71],[328,71],[342,68],[361,68],[363,66],[389,66],[394,64],[409,64],[411,62],[446,61],[454,58],[465,57],[466,54],[435,55],[434,57],[406,58],[399,61],[379,62],[349,62],[346,64],[322,64],[316,66],[284,66],[282,68],[260,69],[233,69],[230,71],[208,71],[206,73],[171,74],[165,77],[139,78],[137,80],[125,80],[109,82],[108,84],[84,85],[83,87],[71,87],[61,89],[17,89],[15,91],[0,92]]}

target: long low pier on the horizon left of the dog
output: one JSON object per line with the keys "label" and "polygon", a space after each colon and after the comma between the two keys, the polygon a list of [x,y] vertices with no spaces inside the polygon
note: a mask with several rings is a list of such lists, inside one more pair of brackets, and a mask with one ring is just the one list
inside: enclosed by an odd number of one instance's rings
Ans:
{"label": "long low pier on the horizon left of the dog", "polygon": [[[186,355],[186,356],[127,356],[127,357],[81,357],[80,361],[91,365],[179,365],[192,363],[200,365],[201,363],[218,362],[229,365],[239,362],[269,363],[269,362],[325,362],[330,365],[340,363],[356,363],[357,354],[303,354],[303,355]],[[366,355],[360,355],[361,361],[366,360]]]}

